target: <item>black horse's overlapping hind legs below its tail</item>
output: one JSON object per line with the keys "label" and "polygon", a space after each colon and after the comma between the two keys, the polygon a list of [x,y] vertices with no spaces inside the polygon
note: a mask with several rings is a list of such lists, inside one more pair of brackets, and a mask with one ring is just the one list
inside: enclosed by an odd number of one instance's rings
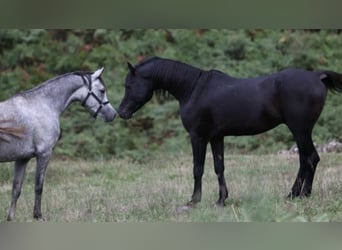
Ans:
{"label": "black horse's overlapping hind legs below its tail", "polygon": [[289,198],[311,195],[316,167],[320,160],[312,142],[311,133],[297,135],[295,139],[299,150],[300,167]]}

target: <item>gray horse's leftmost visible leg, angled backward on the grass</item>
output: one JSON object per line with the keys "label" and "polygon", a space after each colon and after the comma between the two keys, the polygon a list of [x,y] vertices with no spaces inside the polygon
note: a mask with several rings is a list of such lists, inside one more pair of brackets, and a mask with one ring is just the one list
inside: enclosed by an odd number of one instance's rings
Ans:
{"label": "gray horse's leftmost visible leg, angled backward on the grass", "polygon": [[17,207],[17,201],[21,193],[21,187],[23,185],[23,180],[26,171],[26,165],[29,160],[17,160],[14,165],[14,178],[12,187],[12,201],[11,207],[8,210],[7,221],[14,219],[15,210]]}

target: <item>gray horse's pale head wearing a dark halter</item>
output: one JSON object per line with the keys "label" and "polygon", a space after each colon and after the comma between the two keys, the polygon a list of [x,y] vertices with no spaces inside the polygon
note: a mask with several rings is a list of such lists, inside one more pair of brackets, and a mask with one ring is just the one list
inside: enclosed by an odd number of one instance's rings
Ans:
{"label": "gray horse's pale head wearing a dark halter", "polygon": [[88,108],[94,118],[100,117],[105,122],[110,122],[114,120],[116,111],[107,98],[107,88],[101,78],[103,70],[104,68],[100,68],[92,73],[90,77],[82,77],[87,88],[82,105]]}

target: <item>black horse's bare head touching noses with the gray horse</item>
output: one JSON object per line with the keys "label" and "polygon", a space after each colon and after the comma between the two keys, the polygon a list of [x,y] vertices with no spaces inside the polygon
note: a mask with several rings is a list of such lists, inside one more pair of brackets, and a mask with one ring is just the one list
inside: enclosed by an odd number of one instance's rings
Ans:
{"label": "black horse's bare head touching noses with the gray horse", "polygon": [[148,102],[153,95],[153,82],[151,77],[144,76],[128,63],[129,73],[126,76],[125,95],[120,103],[118,113],[121,118],[129,119]]}

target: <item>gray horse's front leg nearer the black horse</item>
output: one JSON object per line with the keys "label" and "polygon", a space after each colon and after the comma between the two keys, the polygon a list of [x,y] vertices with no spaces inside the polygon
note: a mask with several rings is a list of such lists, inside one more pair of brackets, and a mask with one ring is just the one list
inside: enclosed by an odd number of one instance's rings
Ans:
{"label": "gray horse's front leg nearer the black horse", "polygon": [[34,198],[34,209],[33,209],[33,218],[37,220],[43,220],[42,211],[41,211],[41,200],[42,200],[45,172],[49,164],[50,157],[51,157],[51,152],[37,156],[37,167],[36,167],[35,189],[34,189],[35,198]]}

